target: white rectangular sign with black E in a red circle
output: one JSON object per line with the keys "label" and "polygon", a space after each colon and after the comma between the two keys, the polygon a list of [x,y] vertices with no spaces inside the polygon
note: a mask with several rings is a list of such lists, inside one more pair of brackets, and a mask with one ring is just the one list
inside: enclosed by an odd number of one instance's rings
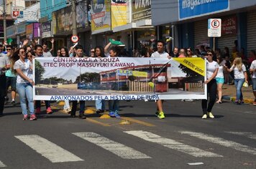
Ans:
{"label": "white rectangular sign with black E in a red circle", "polygon": [[221,37],[221,19],[208,19],[208,37]]}

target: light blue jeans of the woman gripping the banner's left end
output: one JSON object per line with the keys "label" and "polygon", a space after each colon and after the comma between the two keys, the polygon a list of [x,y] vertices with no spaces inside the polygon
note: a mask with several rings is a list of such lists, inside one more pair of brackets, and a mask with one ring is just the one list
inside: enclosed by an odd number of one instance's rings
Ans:
{"label": "light blue jeans of the woman gripping the banner's left end", "polygon": [[[30,83],[17,83],[17,92],[19,93],[20,106],[22,114],[27,115],[27,102],[29,103],[30,115],[34,115],[33,87]],[[27,97],[27,98],[26,98]],[[27,100],[27,102],[26,102]]]}

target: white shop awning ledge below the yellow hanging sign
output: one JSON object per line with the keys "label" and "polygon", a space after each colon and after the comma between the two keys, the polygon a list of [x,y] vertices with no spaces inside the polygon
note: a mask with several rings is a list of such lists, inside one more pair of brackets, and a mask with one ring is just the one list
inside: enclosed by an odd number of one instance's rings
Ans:
{"label": "white shop awning ledge below the yellow hanging sign", "polygon": [[152,26],[152,20],[151,19],[143,19],[140,21],[125,24],[123,26],[116,26],[113,28],[113,32],[127,31],[130,29],[144,29],[144,28],[150,28],[150,27],[154,27],[154,26]]}

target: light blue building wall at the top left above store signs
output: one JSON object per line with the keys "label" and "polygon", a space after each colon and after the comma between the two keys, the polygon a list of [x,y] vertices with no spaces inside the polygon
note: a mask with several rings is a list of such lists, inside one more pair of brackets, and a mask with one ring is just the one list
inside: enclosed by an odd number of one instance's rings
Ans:
{"label": "light blue building wall at the top left above store signs", "polygon": [[47,17],[48,21],[52,20],[52,11],[62,9],[66,4],[66,0],[45,0],[40,1],[41,18]]}

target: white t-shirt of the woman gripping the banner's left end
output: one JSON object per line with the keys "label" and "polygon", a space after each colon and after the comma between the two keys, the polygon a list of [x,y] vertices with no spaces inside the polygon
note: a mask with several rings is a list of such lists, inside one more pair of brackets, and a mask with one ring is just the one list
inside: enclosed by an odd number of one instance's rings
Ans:
{"label": "white t-shirt of the woman gripping the banner's left end", "polygon": [[[21,69],[23,74],[28,77],[29,79],[33,79],[33,71],[30,69],[31,62],[29,59],[25,59],[23,63],[20,59],[14,63],[14,69]],[[29,83],[27,80],[23,79],[22,77],[17,75],[17,83]]]}

